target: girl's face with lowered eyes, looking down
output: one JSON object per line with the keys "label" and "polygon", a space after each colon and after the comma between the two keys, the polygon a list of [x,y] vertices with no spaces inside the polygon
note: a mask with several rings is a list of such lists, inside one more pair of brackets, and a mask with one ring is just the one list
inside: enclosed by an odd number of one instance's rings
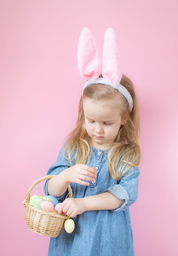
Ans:
{"label": "girl's face with lowered eyes, looking down", "polygon": [[107,149],[124,124],[119,107],[110,105],[108,101],[83,101],[86,131],[91,137],[92,146],[97,149]]}

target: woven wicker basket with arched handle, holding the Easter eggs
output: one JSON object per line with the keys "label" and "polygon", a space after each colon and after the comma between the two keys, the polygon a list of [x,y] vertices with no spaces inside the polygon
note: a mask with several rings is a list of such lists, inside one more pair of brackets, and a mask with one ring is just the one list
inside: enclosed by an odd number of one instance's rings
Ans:
{"label": "woven wicker basket with arched handle, holding the Easter eggs", "polygon": [[[68,216],[37,209],[29,204],[30,193],[32,189],[39,182],[51,179],[52,177],[54,177],[54,175],[48,175],[33,182],[23,202],[24,218],[26,220],[27,226],[29,229],[31,229],[31,231],[42,236],[57,237],[62,232],[64,228],[64,222],[68,219]],[[68,186],[68,192],[69,198],[73,198],[73,192],[70,185]]]}

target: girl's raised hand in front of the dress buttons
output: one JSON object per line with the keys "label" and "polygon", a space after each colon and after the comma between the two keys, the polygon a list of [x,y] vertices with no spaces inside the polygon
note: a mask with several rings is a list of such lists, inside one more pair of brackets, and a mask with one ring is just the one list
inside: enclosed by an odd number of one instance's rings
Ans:
{"label": "girl's raised hand in front of the dress buttons", "polygon": [[69,182],[78,183],[84,186],[90,185],[89,181],[92,182],[97,177],[96,168],[86,164],[76,164],[67,168],[65,171]]}

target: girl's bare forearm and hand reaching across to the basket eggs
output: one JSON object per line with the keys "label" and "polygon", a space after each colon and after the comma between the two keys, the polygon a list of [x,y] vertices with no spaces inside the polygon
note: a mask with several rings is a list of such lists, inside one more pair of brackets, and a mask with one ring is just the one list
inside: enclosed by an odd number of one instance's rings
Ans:
{"label": "girl's bare forearm and hand reaching across to the basket eggs", "polygon": [[66,213],[67,216],[74,218],[84,211],[113,210],[121,207],[123,200],[116,198],[109,191],[91,195],[85,198],[67,198],[59,207],[58,213]]}

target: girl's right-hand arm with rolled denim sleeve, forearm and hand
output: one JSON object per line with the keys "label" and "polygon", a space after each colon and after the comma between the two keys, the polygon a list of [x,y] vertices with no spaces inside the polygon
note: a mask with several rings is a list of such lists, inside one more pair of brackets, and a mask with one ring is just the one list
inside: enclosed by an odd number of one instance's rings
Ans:
{"label": "girl's right-hand arm with rolled denim sleeve, forearm and hand", "polygon": [[85,198],[66,198],[60,205],[58,213],[66,213],[73,218],[84,211],[124,211],[137,199],[139,175],[138,168],[133,167],[130,173],[120,180],[119,184],[108,187],[101,194]]}

